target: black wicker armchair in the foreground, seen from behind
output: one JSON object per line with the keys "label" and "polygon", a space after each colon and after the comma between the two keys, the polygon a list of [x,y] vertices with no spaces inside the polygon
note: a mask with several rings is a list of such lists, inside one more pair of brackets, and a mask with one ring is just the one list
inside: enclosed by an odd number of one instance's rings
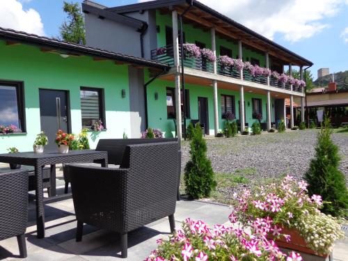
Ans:
{"label": "black wicker armchair in the foreground, seen from behind", "polygon": [[174,212],[179,173],[177,142],[127,145],[120,168],[68,165],[77,217],[77,242],[83,224],[121,234],[127,258],[127,233]]}

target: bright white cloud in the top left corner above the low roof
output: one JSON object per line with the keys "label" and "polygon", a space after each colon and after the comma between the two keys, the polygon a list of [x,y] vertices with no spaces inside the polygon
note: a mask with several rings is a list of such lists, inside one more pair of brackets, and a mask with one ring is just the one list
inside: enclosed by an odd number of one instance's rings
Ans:
{"label": "bright white cloud in the top left corner above the low roof", "polygon": [[22,3],[17,0],[1,0],[0,26],[17,31],[45,35],[40,14],[33,8],[24,10]]}

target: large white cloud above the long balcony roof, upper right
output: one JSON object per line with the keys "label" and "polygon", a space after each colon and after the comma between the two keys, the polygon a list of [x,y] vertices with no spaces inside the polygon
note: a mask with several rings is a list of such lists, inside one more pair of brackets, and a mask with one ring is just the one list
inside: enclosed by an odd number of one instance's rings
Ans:
{"label": "large white cloud above the long balcony roof, upper right", "polygon": [[[139,0],[146,1],[146,0]],[[297,42],[320,33],[348,0],[199,0],[236,22],[273,39],[276,33]]]}

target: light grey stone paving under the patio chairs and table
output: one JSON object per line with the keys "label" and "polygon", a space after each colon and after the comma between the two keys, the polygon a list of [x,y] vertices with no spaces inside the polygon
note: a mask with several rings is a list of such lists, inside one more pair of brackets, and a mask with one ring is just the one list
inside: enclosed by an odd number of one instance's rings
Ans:
{"label": "light grey stone paving under the patio chairs and table", "polygon": [[[30,207],[29,209],[35,214],[35,208]],[[29,227],[26,230],[28,258],[24,260],[122,260],[120,258],[120,238],[117,233],[85,225],[82,242],[75,241],[77,221],[71,199],[46,205],[45,210],[47,213],[46,237],[37,239],[35,221],[29,220]],[[228,224],[230,211],[230,207],[225,205],[181,200],[177,202],[175,225],[180,228],[181,222],[187,217],[201,219],[209,226],[216,223]],[[32,219],[35,218],[32,213],[29,216]],[[157,247],[156,239],[166,238],[168,235],[170,235],[168,218],[130,232],[127,260],[144,260],[150,251]],[[18,260],[18,255],[15,237],[0,241],[0,260]],[[348,260],[348,239],[336,244],[333,258],[336,261]]]}

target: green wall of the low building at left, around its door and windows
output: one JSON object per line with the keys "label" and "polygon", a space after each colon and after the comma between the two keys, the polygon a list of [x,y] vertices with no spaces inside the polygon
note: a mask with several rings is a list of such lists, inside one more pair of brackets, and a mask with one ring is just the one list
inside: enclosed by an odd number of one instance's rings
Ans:
{"label": "green wall of the low building at left, around its door and windows", "polygon": [[[123,132],[129,136],[127,65],[93,61],[88,56],[62,58],[58,54],[41,52],[39,47],[8,46],[4,41],[0,41],[0,57],[0,79],[24,81],[26,113],[26,134],[0,135],[0,153],[9,147],[17,147],[20,151],[33,150],[33,141],[40,132],[39,88],[69,90],[70,122],[74,134],[81,132],[80,87],[104,88],[107,129],[89,133],[91,148],[95,148],[100,138],[122,138]],[[122,98],[122,89],[126,90],[125,98]]]}

